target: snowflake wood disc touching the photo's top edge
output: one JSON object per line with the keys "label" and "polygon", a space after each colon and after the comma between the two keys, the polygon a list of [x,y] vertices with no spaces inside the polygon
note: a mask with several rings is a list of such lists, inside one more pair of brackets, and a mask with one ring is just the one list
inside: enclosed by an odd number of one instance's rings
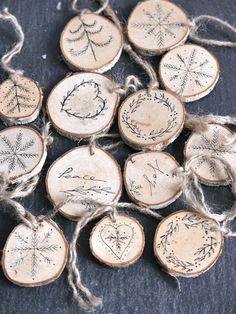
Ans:
{"label": "snowflake wood disc touching the photo's top edge", "polygon": [[170,1],[142,1],[128,19],[127,33],[140,52],[161,54],[187,40],[189,21],[186,13]]}

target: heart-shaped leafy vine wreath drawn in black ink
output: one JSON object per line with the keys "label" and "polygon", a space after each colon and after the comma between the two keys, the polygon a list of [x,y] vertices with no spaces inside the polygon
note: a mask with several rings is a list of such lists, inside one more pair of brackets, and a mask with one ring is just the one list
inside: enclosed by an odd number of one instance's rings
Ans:
{"label": "heart-shaped leafy vine wreath drawn in black ink", "polygon": [[[82,93],[86,88],[89,88],[88,94]],[[74,97],[77,97],[77,101],[73,103]],[[66,96],[63,96],[60,104],[61,112],[79,120],[97,120],[108,109],[107,99],[102,97],[101,86],[94,80],[83,80],[80,84],[75,84],[67,91]]]}

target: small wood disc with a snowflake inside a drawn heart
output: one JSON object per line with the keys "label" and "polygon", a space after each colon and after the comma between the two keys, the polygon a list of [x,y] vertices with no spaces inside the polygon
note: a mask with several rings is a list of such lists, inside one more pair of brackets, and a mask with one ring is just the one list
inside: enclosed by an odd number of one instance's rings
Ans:
{"label": "small wood disc with a snowflake inside a drawn heart", "polygon": [[125,214],[100,220],[90,235],[90,250],[102,263],[125,267],[136,262],[143,253],[145,236],[140,223]]}

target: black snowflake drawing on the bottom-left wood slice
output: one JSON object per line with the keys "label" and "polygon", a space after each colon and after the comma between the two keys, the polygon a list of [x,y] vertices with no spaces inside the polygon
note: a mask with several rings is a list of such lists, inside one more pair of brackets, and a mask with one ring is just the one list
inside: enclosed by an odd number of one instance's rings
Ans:
{"label": "black snowflake drawing on the bottom-left wood slice", "polygon": [[8,253],[12,254],[13,259],[15,254],[19,256],[10,265],[16,273],[19,267],[29,267],[30,265],[31,279],[35,280],[42,263],[55,266],[53,253],[61,247],[53,243],[52,230],[45,232],[43,235],[40,235],[37,230],[32,230],[31,234],[27,233],[27,235],[16,232],[15,240],[15,245],[9,248]]}

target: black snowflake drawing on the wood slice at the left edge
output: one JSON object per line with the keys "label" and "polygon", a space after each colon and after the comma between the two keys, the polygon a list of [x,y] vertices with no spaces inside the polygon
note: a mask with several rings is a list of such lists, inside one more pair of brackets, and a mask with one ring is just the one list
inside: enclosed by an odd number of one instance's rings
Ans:
{"label": "black snowflake drawing on the wood slice at the left edge", "polygon": [[[11,141],[6,135],[0,135],[1,150],[0,150],[0,165],[7,164],[8,171],[11,173],[16,167],[27,171],[26,161],[29,159],[38,158],[38,154],[33,153],[35,141],[33,139],[23,143],[23,133],[20,130],[14,141]],[[30,150],[30,152],[29,152]]]}

